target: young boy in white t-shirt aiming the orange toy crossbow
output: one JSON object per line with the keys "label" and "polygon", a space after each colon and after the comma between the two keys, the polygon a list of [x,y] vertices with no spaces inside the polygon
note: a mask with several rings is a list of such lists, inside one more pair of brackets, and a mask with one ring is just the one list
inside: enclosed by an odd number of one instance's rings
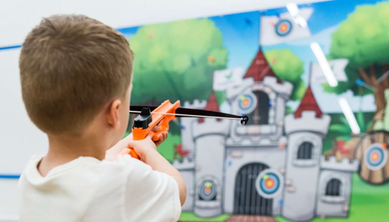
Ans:
{"label": "young boy in white t-shirt aiming the orange toy crossbow", "polygon": [[[123,35],[87,16],[44,18],[26,37],[19,68],[27,113],[49,140],[19,180],[21,221],[178,220],[185,183],[156,151],[167,133],[157,143],[118,142],[133,70]],[[127,145],[142,161],[112,161]]]}

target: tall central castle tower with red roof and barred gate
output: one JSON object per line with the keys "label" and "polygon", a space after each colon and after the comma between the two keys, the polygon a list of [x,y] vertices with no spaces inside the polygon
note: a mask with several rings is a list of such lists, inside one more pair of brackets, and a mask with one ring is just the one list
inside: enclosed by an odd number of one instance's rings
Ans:
{"label": "tall central castle tower with red roof and barred gate", "polygon": [[[292,89],[291,83],[277,78],[260,48],[242,83],[227,89],[233,113],[247,115],[249,122],[245,126],[231,122],[225,152],[224,212],[281,213],[285,103]],[[271,180],[271,191],[263,186],[265,180]]]}

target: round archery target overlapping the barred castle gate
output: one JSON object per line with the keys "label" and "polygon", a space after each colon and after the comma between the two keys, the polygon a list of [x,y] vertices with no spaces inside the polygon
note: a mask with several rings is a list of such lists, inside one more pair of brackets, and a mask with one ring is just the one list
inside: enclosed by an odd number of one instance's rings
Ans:
{"label": "round archery target overlapping the barred castle gate", "polygon": [[284,188],[284,178],[274,169],[266,169],[259,173],[255,181],[257,192],[264,198],[278,196]]}

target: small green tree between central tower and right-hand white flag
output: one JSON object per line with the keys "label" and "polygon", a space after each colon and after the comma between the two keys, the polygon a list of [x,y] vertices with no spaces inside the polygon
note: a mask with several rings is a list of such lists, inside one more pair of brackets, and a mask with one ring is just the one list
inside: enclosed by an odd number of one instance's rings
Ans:
{"label": "small green tree between central tower and right-hand white flag", "polygon": [[301,79],[304,68],[300,58],[290,49],[266,51],[265,57],[277,77],[293,84],[291,100],[301,100],[305,93],[305,82]]}

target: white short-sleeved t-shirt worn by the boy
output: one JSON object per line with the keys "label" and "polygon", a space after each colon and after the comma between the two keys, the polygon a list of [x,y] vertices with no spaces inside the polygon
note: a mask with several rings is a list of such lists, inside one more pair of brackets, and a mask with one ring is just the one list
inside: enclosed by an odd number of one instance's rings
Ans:
{"label": "white short-sleeved t-shirt worn by the boy", "polygon": [[46,177],[37,170],[45,154],[31,157],[19,180],[20,221],[177,221],[177,182],[142,161],[79,157],[56,166]]}

